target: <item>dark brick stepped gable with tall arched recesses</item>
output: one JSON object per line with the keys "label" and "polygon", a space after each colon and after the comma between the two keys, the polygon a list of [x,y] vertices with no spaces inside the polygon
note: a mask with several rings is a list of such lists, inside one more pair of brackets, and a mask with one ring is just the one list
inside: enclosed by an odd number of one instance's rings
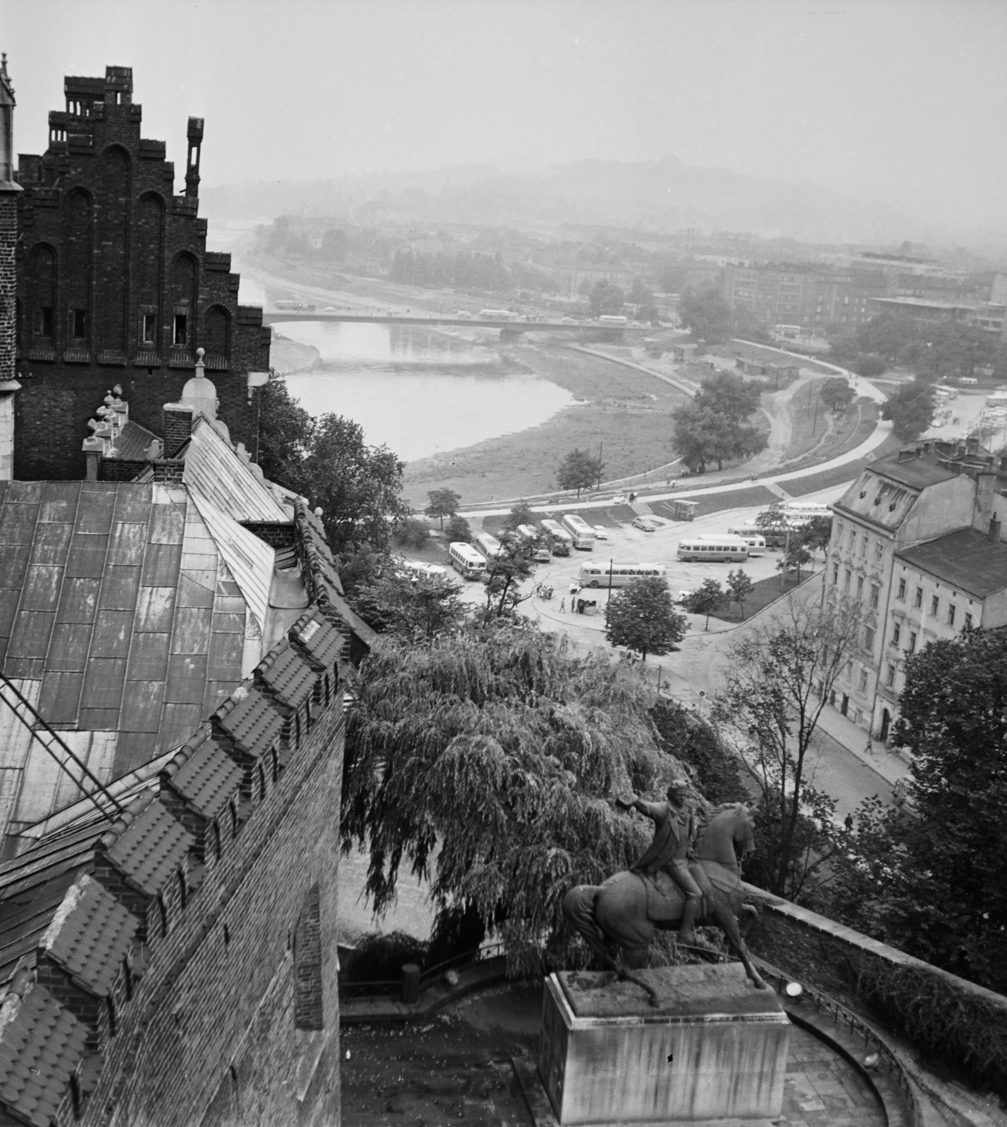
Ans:
{"label": "dark brick stepped gable with tall arched recesses", "polygon": [[[203,119],[188,119],[176,195],[165,142],[141,136],[129,68],[68,78],[64,94],[44,154],[21,154],[16,174],[17,361],[32,394],[16,402],[15,476],[83,477],[72,425],[54,419],[86,419],[116,382],[133,421],[157,433],[198,349],[235,441],[255,449],[262,388],[249,376],[268,371],[270,329],[260,309],[238,303],[230,255],[206,249]],[[132,450],[142,437],[131,436]]]}

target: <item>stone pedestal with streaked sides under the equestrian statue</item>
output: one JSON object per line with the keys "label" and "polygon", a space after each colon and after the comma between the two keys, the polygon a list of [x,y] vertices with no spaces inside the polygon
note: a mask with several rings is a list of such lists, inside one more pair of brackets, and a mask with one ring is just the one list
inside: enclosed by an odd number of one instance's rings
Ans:
{"label": "stone pedestal with streaked sides under the equestrian statue", "polygon": [[611,974],[546,980],[538,1071],[563,1127],[778,1117],[790,1023],[776,994],[735,964],[638,974],[659,1009]]}

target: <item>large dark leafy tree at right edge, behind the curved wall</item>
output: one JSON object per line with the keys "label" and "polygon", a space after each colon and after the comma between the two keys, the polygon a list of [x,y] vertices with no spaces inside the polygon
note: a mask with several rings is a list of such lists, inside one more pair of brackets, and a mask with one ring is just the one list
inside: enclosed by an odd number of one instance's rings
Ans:
{"label": "large dark leafy tree at right edge, behind the curved wall", "polygon": [[916,816],[858,811],[837,877],[839,917],[1007,992],[1007,637],[965,631],[906,664],[894,738],[912,752]]}

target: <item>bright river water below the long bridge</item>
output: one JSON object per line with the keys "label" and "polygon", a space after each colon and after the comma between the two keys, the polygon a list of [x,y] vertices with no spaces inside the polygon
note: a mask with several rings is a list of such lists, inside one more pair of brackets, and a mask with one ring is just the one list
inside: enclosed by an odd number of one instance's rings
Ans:
{"label": "bright river water below the long bridge", "polygon": [[574,402],[493,348],[422,326],[290,321],[280,332],[321,356],[319,369],[286,376],[301,406],[353,419],[370,445],[406,462],[538,426]]}

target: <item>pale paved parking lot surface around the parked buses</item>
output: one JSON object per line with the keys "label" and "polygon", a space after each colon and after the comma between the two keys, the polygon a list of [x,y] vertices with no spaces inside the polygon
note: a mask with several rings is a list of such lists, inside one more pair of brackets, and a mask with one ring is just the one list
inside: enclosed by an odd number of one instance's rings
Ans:
{"label": "pale paved parking lot surface around the parked buses", "polygon": [[[802,497],[806,502],[830,503],[845,492],[846,487],[833,487],[809,497]],[[613,560],[618,564],[663,564],[665,566],[668,586],[673,596],[678,597],[680,592],[695,591],[705,579],[717,579],[726,586],[727,574],[737,568],[744,570],[753,583],[766,579],[770,576],[779,575],[777,561],[780,558],[779,551],[766,549],[762,556],[749,557],[748,561],[741,562],[681,562],[677,556],[679,541],[697,535],[717,535],[725,533],[728,526],[735,524],[747,524],[754,522],[756,516],[765,506],[751,506],[748,508],[725,509],[721,513],[712,513],[707,516],[697,517],[695,521],[670,521],[663,517],[653,516],[651,520],[657,525],[654,532],[644,532],[642,529],[633,527],[630,521],[608,523],[604,525],[607,539],[597,540],[591,551],[577,551],[571,549],[567,557],[554,556],[548,564],[537,564],[529,580],[522,584],[522,593],[529,594],[536,585],[542,584],[551,586],[554,594],[551,600],[544,600],[538,595],[532,595],[524,604],[522,611],[525,614],[538,614],[542,620],[542,625],[547,629],[560,629],[575,636],[582,631],[595,631],[599,636],[604,632],[604,607],[608,602],[609,592],[607,587],[593,591],[585,587],[578,597],[594,600],[593,613],[571,615],[571,586],[577,582],[580,568],[585,562],[608,564]],[[816,561],[821,567],[821,556]],[[461,584],[462,597],[467,601],[480,603],[485,595],[482,584]],[[616,588],[618,589],[618,588]],[[564,612],[559,611],[560,602],[565,602]],[[690,630],[704,630],[706,619],[703,615],[687,615]],[[732,623],[712,619],[709,622],[710,632],[715,630],[731,629]],[[590,640],[584,638],[584,640]],[[593,640],[594,645],[602,642],[599,637]]]}

